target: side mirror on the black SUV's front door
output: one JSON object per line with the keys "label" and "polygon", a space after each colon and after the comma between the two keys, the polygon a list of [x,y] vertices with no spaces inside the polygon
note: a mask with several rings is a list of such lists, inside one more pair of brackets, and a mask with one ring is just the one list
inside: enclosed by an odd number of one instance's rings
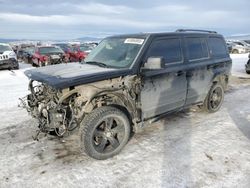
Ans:
{"label": "side mirror on the black SUV's front door", "polygon": [[158,70],[164,68],[165,61],[163,57],[149,57],[143,67],[143,69],[146,70]]}

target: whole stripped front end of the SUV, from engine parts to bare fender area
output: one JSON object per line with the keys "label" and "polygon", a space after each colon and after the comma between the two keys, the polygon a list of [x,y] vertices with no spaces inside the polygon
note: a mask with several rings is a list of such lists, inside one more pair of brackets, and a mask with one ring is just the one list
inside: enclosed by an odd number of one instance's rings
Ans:
{"label": "whole stripped front end of the SUV, from engine parts to bare fender area", "polygon": [[31,116],[38,120],[39,130],[33,138],[38,140],[40,133],[62,137],[77,128],[86,113],[103,105],[126,106],[134,116],[137,114],[135,91],[138,91],[135,83],[133,79],[113,79],[101,81],[97,85],[87,84],[60,90],[31,80],[31,93],[21,102]]}

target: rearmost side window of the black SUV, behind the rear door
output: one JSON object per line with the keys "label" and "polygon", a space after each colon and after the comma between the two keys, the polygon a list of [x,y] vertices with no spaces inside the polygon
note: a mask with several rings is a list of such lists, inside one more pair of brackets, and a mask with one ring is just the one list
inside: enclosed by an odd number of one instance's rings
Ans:
{"label": "rearmost side window of the black SUV, behind the rear door", "polygon": [[211,37],[208,39],[208,46],[210,48],[210,53],[215,57],[227,57],[228,52],[225,42],[222,38]]}

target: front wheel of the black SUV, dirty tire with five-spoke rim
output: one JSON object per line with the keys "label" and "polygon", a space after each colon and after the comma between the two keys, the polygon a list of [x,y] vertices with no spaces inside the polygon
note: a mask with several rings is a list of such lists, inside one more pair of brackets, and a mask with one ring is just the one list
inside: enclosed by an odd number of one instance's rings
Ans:
{"label": "front wheel of the black SUV, dirty tire with five-spoke rim", "polygon": [[118,154],[128,142],[130,121],[119,109],[104,106],[86,115],[80,125],[80,147],[98,160]]}

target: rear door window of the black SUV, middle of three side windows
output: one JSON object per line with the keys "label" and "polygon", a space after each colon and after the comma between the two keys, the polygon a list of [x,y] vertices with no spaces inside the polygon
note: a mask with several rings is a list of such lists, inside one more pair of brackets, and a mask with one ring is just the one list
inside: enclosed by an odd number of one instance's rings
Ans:
{"label": "rear door window of the black SUV, middle of three side windows", "polygon": [[190,61],[208,58],[208,47],[204,38],[186,38]]}

